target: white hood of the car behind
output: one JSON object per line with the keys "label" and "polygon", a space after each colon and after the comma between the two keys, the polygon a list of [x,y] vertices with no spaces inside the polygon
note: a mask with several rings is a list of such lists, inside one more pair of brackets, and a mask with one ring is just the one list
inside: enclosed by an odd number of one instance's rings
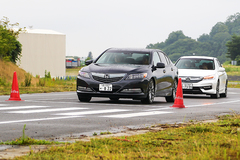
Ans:
{"label": "white hood of the car behind", "polygon": [[178,76],[204,77],[204,76],[214,75],[214,74],[215,74],[215,70],[178,69]]}

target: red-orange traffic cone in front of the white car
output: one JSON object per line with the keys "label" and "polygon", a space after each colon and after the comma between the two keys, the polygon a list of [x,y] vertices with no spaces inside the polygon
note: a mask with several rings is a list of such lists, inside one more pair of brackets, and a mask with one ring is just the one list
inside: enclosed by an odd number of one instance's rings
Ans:
{"label": "red-orange traffic cone in front of the white car", "polygon": [[183,104],[182,79],[178,79],[177,93],[173,106],[175,108],[185,108]]}

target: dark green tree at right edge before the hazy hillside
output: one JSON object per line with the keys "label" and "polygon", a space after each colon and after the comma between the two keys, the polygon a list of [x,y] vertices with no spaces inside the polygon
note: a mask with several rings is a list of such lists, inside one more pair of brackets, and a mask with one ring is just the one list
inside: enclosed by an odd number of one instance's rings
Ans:
{"label": "dark green tree at right edge before the hazy hillside", "polygon": [[234,34],[232,40],[228,41],[226,46],[228,47],[227,57],[235,60],[236,57],[240,55],[240,36]]}

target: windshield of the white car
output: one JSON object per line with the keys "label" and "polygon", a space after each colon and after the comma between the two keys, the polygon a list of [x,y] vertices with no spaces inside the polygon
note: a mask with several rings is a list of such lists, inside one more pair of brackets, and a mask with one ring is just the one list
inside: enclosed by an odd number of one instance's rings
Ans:
{"label": "windshield of the white car", "polygon": [[214,70],[214,61],[211,59],[197,59],[197,58],[182,58],[177,61],[178,69],[205,69]]}

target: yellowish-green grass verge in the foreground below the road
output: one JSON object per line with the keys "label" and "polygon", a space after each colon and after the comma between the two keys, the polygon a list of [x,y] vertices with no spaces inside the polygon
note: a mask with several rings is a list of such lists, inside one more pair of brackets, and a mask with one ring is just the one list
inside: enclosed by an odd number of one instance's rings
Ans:
{"label": "yellowish-green grass verge in the foreground below the road", "polygon": [[219,119],[216,123],[159,125],[169,128],[78,141],[15,159],[240,159],[240,115]]}

